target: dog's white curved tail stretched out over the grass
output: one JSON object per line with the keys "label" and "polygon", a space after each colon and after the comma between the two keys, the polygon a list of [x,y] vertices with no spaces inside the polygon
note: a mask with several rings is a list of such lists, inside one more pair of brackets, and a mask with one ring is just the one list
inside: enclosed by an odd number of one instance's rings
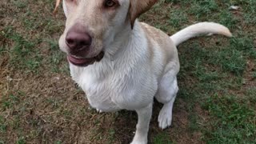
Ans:
{"label": "dog's white curved tail stretched out over the grass", "polygon": [[170,38],[173,40],[174,44],[178,46],[182,42],[202,34],[222,34],[226,37],[232,37],[230,30],[225,26],[214,22],[199,22],[178,31],[178,33],[170,36]]}

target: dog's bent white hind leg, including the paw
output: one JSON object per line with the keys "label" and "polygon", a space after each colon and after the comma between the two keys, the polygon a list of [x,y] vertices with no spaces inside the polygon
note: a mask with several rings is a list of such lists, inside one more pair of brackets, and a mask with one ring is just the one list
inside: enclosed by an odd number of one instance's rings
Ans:
{"label": "dog's bent white hind leg, including the paw", "polygon": [[178,69],[172,68],[163,75],[159,83],[158,94],[155,96],[158,102],[164,104],[158,115],[158,123],[161,129],[166,129],[172,122],[172,110],[178,93],[177,73]]}

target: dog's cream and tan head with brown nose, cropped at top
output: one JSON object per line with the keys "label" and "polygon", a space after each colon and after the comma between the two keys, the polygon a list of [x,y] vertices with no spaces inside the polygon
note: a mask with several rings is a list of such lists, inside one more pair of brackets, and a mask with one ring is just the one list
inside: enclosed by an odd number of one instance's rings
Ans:
{"label": "dog's cream and tan head with brown nose, cropped at top", "polygon": [[[61,0],[57,0],[57,6]],[[135,19],[158,0],[63,0],[66,30],[60,48],[76,66],[88,66],[104,57],[124,26],[133,29]]]}

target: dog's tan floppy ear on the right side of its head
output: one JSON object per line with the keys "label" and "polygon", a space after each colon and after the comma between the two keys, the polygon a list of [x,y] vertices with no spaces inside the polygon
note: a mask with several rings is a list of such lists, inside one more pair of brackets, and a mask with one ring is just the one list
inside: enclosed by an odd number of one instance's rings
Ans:
{"label": "dog's tan floppy ear on the right side of its head", "polygon": [[134,27],[134,22],[141,14],[150,10],[158,0],[130,0],[130,24]]}

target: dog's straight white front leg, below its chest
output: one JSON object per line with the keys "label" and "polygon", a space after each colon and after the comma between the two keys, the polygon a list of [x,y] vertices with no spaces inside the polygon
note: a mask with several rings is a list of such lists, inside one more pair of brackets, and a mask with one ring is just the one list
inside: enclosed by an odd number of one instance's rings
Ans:
{"label": "dog's straight white front leg, below its chest", "polygon": [[133,142],[131,142],[131,144],[147,143],[147,134],[149,131],[150,118],[152,115],[152,106],[153,106],[153,103],[150,103],[149,106],[136,110],[138,114],[138,124],[136,126],[134,140]]}

